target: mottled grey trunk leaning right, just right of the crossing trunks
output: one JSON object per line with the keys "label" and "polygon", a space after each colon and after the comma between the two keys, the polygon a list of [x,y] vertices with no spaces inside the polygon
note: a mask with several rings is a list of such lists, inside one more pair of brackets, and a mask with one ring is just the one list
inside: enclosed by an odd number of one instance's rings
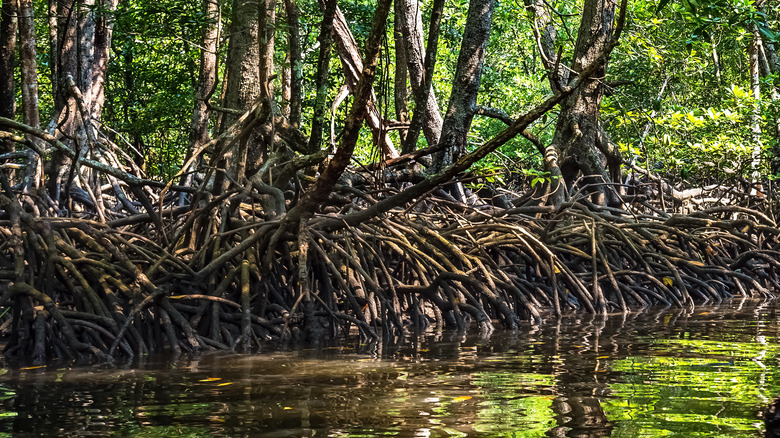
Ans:
{"label": "mottled grey trunk leaning right, just right of the crossing trunks", "polygon": [[458,66],[439,139],[443,149],[434,154],[434,171],[444,169],[466,153],[469,128],[477,111],[477,94],[494,8],[494,0],[469,2]]}

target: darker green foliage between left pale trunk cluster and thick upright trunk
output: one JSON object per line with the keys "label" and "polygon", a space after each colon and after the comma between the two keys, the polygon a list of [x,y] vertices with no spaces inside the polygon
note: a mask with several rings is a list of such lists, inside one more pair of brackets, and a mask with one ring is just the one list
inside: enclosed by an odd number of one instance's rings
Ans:
{"label": "darker green foliage between left pale trunk cluster and thick upright trunk", "polygon": [[206,24],[198,2],[139,0],[117,10],[103,118],[150,175],[172,177],[186,154]]}

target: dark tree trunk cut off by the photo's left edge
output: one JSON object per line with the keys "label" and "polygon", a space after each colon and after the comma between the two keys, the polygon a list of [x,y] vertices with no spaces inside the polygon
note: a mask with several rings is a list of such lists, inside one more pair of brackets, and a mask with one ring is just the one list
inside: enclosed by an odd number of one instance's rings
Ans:
{"label": "dark tree trunk cut off by the photo's left edge", "polygon": [[[14,64],[16,59],[16,1],[3,0],[0,12],[0,117],[16,114]],[[13,152],[10,140],[0,140],[0,154]]]}

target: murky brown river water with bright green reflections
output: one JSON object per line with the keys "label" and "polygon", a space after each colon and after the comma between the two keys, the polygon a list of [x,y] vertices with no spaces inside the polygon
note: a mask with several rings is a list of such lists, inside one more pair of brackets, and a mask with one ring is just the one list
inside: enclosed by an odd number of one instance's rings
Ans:
{"label": "murky brown river water with bright green reflections", "polygon": [[0,370],[0,437],[760,437],[776,304],[135,368]]}

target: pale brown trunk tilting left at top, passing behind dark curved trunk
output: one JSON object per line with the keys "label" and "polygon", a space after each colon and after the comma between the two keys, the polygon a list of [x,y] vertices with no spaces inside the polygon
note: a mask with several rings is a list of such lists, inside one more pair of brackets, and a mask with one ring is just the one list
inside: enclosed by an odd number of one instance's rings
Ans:
{"label": "pale brown trunk tilting left at top, passing behind dark curved trunk", "polygon": [[[358,81],[360,80],[361,72],[363,71],[363,60],[360,58],[360,51],[358,50],[357,43],[352,37],[352,32],[347,25],[347,19],[338,7],[336,7],[336,15],[333,20],[333,30],[335,32],[336,48],[339,52],[339,59],[341,59],[341,65],[344,68],[344,75],[346,76],[347,87],[349,87],[351,93],[354,93]],[[366,109],[368,110],[366,124],[371,128],[374,139],[382,149],[383,159],[397,157],[398,151],[393,145],[393,141],[390,139],[386,120],[382,117],[382,114],[380,114],[379,109],[376,107],[376,95],[373,88],[371,89],[371,98],[366,104]]]}

